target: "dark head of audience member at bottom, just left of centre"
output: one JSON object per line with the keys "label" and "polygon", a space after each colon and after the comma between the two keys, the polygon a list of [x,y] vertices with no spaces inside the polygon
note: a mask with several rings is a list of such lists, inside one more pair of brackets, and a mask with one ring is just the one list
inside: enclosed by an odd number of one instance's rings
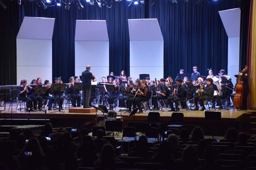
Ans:
{"label": "dark head of audience member at bottom, just left of centre", "polygon": [[111,163],[114,162],[116,159],[116,153],[115,149],[111,144],[105,144],[102,147],[101,153],[100,153],[100,160],[102,162]]}

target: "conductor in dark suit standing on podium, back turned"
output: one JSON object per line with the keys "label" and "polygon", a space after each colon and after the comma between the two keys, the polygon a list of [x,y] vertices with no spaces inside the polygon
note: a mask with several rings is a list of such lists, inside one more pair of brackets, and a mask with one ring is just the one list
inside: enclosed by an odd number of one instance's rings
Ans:
{"label": "conductor in dark suit standing on podium, back turned", "polygon": [[89,106],[89,101],[91,97],[91,89],[92,89],[92,83],[91,80],[94,80],[94,74],[90,72],[91,66],[87,65],[86,70],[82,72],[82,88],[83,88],[83,108],[91,108]]}

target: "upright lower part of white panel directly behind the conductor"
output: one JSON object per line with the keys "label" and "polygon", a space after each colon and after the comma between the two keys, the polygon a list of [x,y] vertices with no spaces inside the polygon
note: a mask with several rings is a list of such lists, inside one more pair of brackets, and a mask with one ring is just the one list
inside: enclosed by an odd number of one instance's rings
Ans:
{"label": "upright lower part of white panel directly behind the conductor", "polygon": [[97,80],[109,73],[108,41],[75,41],[75,74],[79,76],[87,65]]}

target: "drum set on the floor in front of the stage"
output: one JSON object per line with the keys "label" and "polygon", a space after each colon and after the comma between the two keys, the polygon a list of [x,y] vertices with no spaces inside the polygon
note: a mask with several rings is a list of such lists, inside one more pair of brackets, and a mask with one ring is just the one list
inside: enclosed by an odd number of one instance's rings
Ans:
{"label": "drum set on the floor in front of the stage", "polygon": [[123,121],[124,118],[122,116],[116,116],[117,112],[108,111],[107,115],[98,115],[97,116],[97,126],[106,127],[106,121]]}

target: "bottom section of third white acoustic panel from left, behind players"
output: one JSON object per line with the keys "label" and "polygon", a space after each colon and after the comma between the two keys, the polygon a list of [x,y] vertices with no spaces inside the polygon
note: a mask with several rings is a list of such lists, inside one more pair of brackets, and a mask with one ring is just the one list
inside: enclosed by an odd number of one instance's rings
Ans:
{"label": "bottom section of third white acoustic panel from left, behind players", "polygon": [[130,76],[132,80],[135,81],[137,78],[140,78],[140,74],[149,74],[150,80],[160,80],[164,77],[164,66],[162,67],[148,67],[148,66],[135,66],[130,67]]}

